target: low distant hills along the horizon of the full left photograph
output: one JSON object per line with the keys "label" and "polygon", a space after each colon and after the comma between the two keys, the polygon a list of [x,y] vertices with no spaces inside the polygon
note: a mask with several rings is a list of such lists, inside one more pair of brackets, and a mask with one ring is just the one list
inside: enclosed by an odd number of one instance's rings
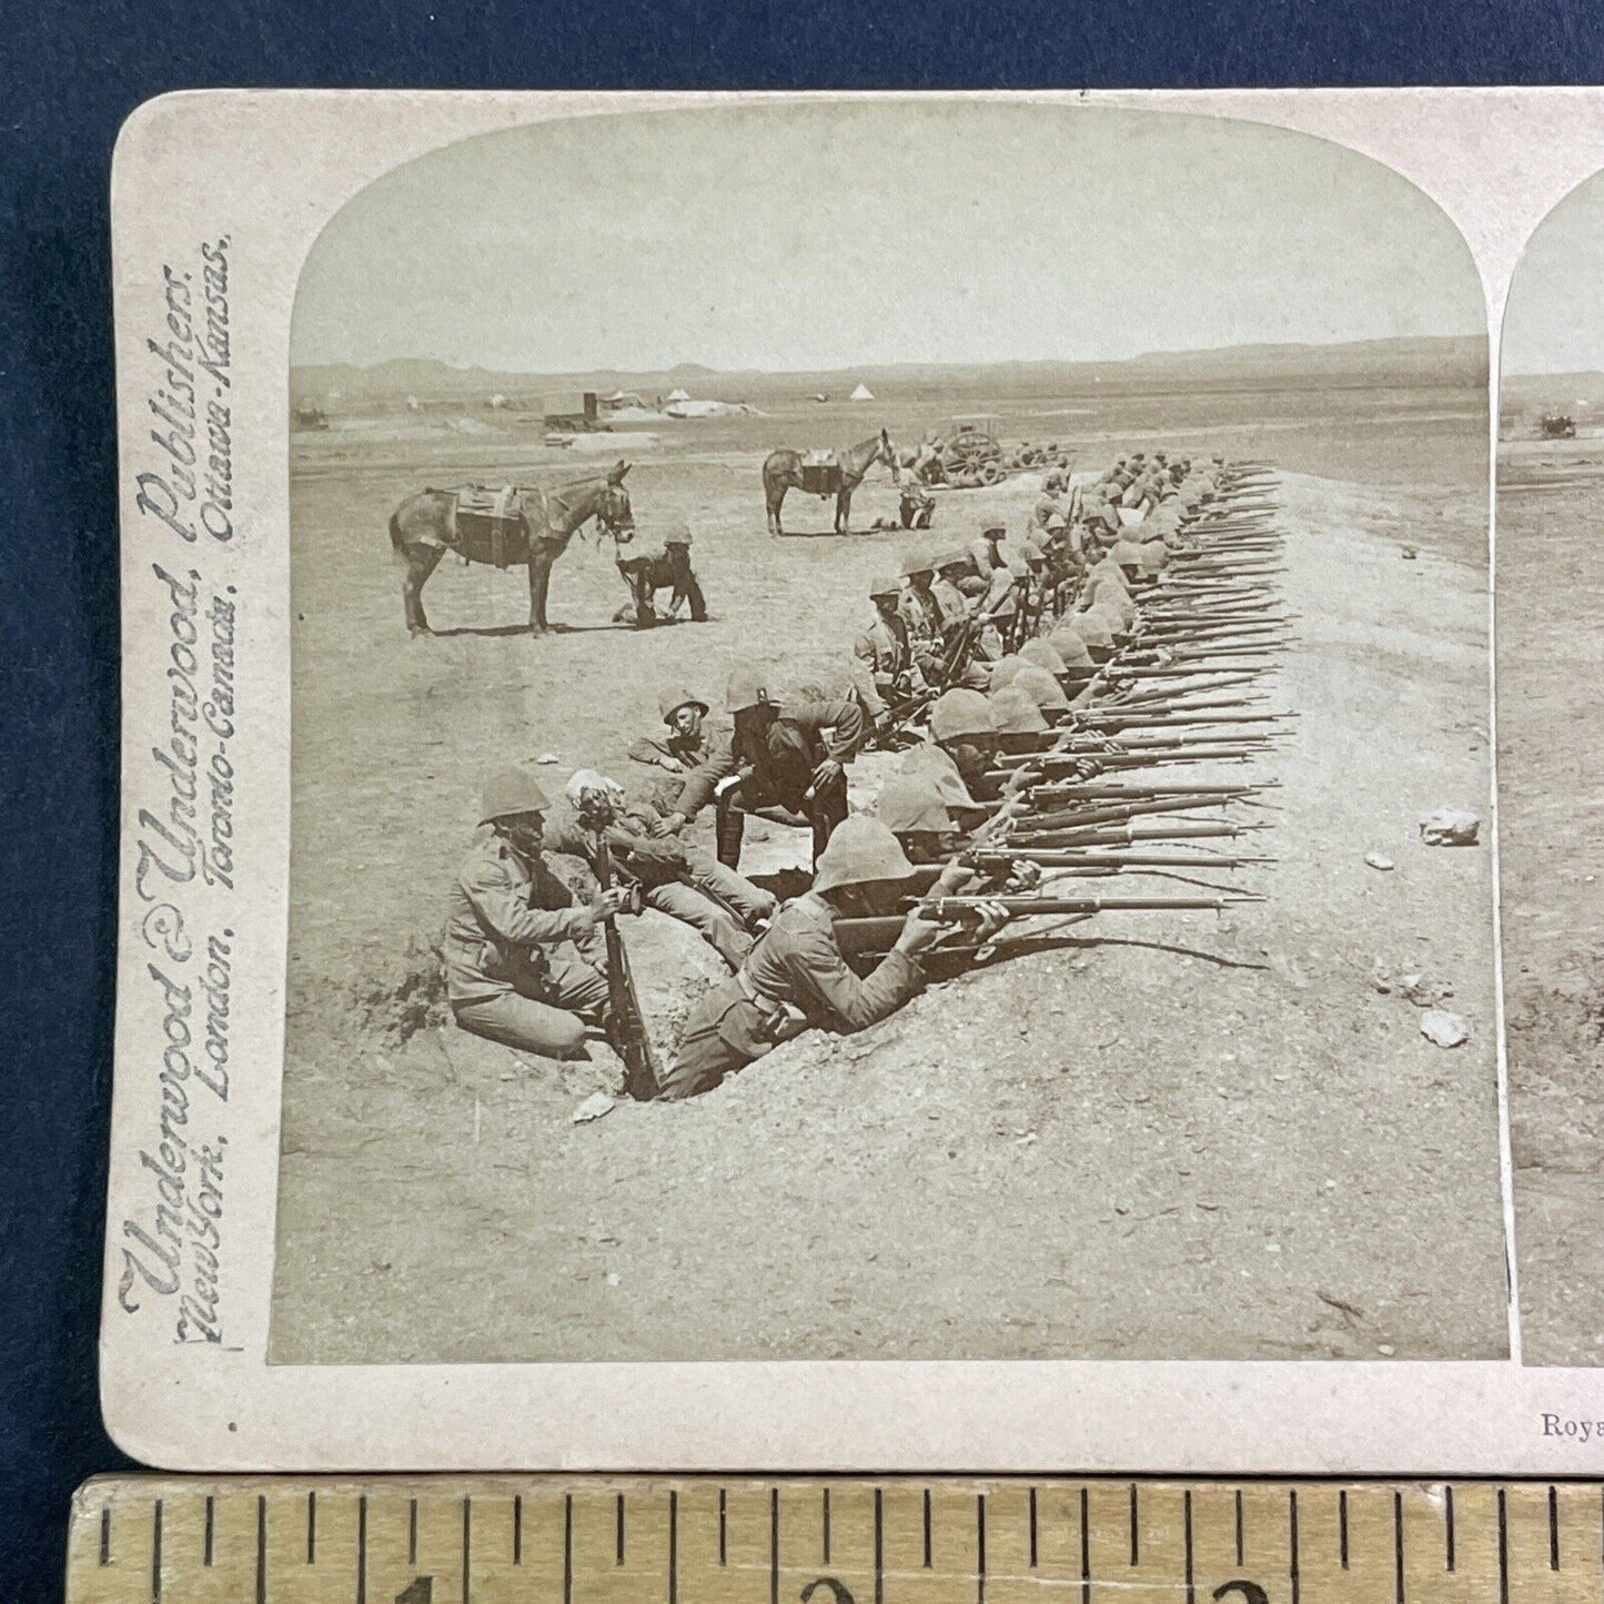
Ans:
{"label": "low distant hills along the horizon of the full left photograph", "polygon": [[589,374],[520,374],[489,367],[452,367],[435,358],[393,358],[361,367],[350,363],[300,364],[290,369],[297,398],[350,399],[417,396],[419,399],[483,398],[494,393],[541,395],[597,390],[638,390],[642,395],[675,388],[715,388],[730,393],[765,390],[821,390],[845,393],[860,380],[871,388],[898,383],[932,383],[948,379],[980,379],[986,374],[1022,377],[1079,390],[1102,383],[1224,383],[1253,385],[1294,380],[1349,385],[1477,385],[1487,382],[1487,342],[1479,335],[1442,335],[1397,340],[1355,340],[1335,345],[1235,345],[1205,351],[1147,351],[1126,361],[1062,363],[897,363],[815,372],[720,372],[701,363],[669,369],[627,372],[597,369]]}

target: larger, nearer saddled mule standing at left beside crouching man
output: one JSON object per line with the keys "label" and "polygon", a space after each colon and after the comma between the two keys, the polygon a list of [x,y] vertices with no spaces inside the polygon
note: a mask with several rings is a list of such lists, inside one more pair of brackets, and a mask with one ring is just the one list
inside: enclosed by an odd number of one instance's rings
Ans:
{"label": "larger, nearer saddled mule standing at left beside crouching man", "polygon": [[[552,626],[545,618],[545,597],[552,584],[552,563],[568,550],[568,541],[590,518],[602,521],[605,534],[624,545],[635,534],[624,475],[619,462],[608,473],[571,480],[550,489],[520,484],[508,508],[508,531],[500,552],[491,550],[489,536],[457,529],[456,491],[419,491],[390,516],[390,544],[406,563],[401,602],[406,627],[412,635],[430,634],[423,614],[423,581],[439,566],[446,552],[470,563],[497,566],[528,565],[529,634],[544,635]],[[478,523],[478,521],[476,521]]]}

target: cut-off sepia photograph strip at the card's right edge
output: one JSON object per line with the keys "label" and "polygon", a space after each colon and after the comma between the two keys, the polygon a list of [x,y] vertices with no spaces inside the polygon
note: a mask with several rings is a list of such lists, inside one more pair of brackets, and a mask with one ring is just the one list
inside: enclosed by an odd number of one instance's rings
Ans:
{"label": "cut-off sepia photograph strip at the card's right edge", "polygon": [[1509,284],[1498,419],[1498,839],[1524,1357],[1604,1363],[1604,183]]}

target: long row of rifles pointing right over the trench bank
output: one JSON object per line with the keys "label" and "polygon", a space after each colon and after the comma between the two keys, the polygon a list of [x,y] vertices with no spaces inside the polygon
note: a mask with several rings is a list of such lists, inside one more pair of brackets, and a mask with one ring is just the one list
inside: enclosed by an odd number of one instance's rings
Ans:
{"label": "long row of rifles pointing right over the trench bank", "polygon": [[[1169,552],[1163,576],[1134,595],[1137,619],[1115,637],[1113,651],[1091,670],[1065,675],[1075,706],[1036,749],[998,759],[991,778],[999,800],[982,804],[991,818],[970,836],[961,858],[1004,882],[1017,865],[1035,865],[1038,885],[1019,895],[988,889],[929,897],[942,865],[921,868],[908,906],[959,922],[942,951],[978,945],[966,940],[962,924],[977,919],[983,905],[1001,905],[1014,917],[1078,921],[1108,911],[1221,913],[1264,900],[1198,876],[1274,861],[1205,842],[1267,829],[1261,820],[1224,813],[1230,805],[1269,807],[1264,792],[1275,781],[1189,780],[1177,765],[1251,762],[1272,751],[1296,717],[1270,711],[1262,695],[1296,622],[1269,589],[1285,571],[1283,537],[1274,523],[1280,504],[1261,494],[1270,483],[1262,464],[1230,472],[1217,497],[1182,525],[1185,544]],[[1073,595],[1060,602],[1073,606]],[[977,637],[978,629],[970,629],[961,638]],[[953,678],[961,667],[959,656]],[[1128,778],[1144,770],[1156,773]],[[1211,895],[1084,889],[1089,879],[1132,874],[1198,885]],[[845,953],[868,956],[890,948],[901,921],[901,914],[837,919],[836,932]]]}

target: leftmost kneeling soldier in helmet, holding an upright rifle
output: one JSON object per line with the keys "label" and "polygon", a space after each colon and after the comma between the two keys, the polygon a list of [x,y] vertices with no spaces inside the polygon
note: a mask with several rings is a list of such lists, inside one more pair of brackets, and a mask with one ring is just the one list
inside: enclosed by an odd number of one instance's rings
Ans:
{"label": "leftmost kneeling soldier in helmet, holding an upright rifle", "polygon": [[584,1057],[585,1025],[608,1023],[606,948],[597,926],[627,900],[598,892],[587,906],[541,850],[550,802],[510,768],[484,788],[475,839],[452,887],[446,993],[475,1036],[549,1059]]}

